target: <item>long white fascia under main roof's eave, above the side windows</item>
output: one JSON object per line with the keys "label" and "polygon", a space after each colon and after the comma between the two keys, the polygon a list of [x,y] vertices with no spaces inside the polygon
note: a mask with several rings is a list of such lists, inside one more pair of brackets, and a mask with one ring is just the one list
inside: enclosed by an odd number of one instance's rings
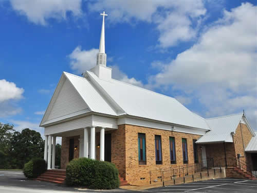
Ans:
{"label": "long white fascia under main roof's eave, above the side windows", "polygon": [[189,134],[195,134],[195,135],[205,135],[205,133],[209,131],[205,129],[183,127],[175,124],[168,124],[168,123],[163,123],[163,122],[158,122],[153,120],[150,121],[142,118],[134,118],[134,117],[132,118],[128,116],[123,116],[118,118],[118,125],[123,125],[123,124],[148,127],[148,128],[154,128],[154,129],[162,129],[167,131],[175,131],[175,132],[181,132],[181,133],[189,133]]}

